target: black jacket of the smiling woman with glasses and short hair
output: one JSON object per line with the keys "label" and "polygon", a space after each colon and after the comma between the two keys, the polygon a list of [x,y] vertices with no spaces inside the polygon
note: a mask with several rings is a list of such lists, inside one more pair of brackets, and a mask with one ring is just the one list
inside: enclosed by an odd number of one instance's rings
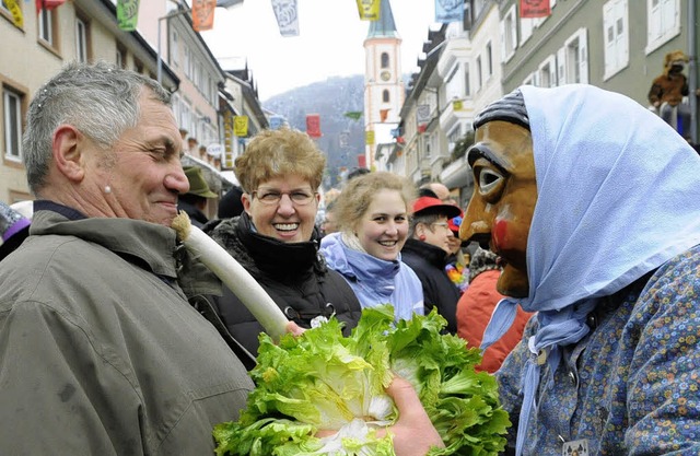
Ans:
{"label": "black jacket of the smiling woman with glasses and short hair", "polygon": [[[283,243],[255,233],[245,212],[233,219],[212,220],[203,231],[250,272],[287,317],[300,326],[310,328],[314,317],[335,313],[349,334],[360,319],[360,302],[342,276],[326,266],[318,253],[316,231],[310,242]],[[226,287],[223,296],[212,300],[231,335],[257,355],[262,326]]]}

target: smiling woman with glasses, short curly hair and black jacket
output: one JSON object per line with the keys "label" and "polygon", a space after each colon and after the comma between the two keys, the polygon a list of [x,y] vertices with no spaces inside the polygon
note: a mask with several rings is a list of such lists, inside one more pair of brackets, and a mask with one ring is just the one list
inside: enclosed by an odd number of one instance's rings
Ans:
{"label": "smiling woman with glasses, short curly hair and black jacket", "polygon": [[[315,227],[325,155],[304,132],[265,130],[235,161],[244,212],[205,226],[262,285],[290,320],[308,328],[316,317],[336,317],[350,331],[361,307],[345,279],[318,254]],[[228,289],[215,312],[254,356],[262,327]]]}

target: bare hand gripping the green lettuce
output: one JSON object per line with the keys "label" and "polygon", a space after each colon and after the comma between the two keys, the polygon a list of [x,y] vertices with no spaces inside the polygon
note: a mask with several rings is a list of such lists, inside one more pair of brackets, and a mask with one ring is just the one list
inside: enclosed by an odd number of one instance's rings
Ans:
{"label": "bare hand gripping the green lettuce", "polygon": [[398,408],[398,421],[387,429],[394,434],[397,456],[425,456],[431,446],[445,447],[408,381],[394,377],[386,393]]}

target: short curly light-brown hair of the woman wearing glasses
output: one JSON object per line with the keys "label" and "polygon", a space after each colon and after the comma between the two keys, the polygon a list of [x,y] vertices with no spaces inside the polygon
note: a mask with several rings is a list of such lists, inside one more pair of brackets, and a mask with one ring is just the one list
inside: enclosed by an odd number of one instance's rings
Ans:
{"label": "short curly light-brown hair of the woman wearing glasses", "polygon": [[256,135],[236,159],[234,173],[248,194],[261,183],[289,174],[301,176],[316,191],[325,167],[326,155],[308,135],[282,128]]}

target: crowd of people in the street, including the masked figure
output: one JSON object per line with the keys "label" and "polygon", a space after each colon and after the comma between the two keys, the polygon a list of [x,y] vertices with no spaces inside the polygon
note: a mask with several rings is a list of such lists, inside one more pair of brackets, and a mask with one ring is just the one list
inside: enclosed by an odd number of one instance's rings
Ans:
{"label": "crowd of people in the street, including the masked figure", "polygon": [[[282,128],[252,138],[210,220],[220,195],[182,166],[170,94],[65,67],[27,110],[33,212],[0,203],[0,453],[212,454],[264,329],[179,245],[182,210],[293,334],[331,317],[349,332],[381,304],[439,313],[481,348],[508,454],[697,454],[700,156],[590,85],[518,87],[474,127],[466,208],[366,168],[324,201],[325,154]],[[387,393],[397,455],[443,446],[408,382]]]}

